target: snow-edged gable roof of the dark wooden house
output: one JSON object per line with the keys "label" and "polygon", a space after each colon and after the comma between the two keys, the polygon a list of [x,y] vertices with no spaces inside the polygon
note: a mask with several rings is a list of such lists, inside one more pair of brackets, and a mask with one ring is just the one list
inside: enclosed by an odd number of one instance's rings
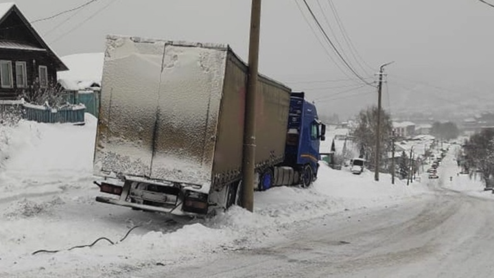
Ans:
{"label": "snow-edged gable roof of the dark wooden house", "polygon": [[[15,13],[15,14],[17,14],[17,16],[19,16],[19,19],[21,19],[23,24],[27,27],[27,30],[29,30],[30,33],[32,34],[32,36],[34,36],[34,38],[36,38],[36,40],[43,47],[43,49],[45,49],[48,52],[48,55],[54,60],[54,62],[56,64],[57,71],[67,71],[69,68],[67,68],[67,66],[64,65],[62,60],[60,60],[60,58],[58,58],[58,56],[55,54],[55,52],[48,47],[48,45],[45,43],[45,40],[43,40],[43,38],[40,37],[40,35],[38,34],[38,32],[36,32],[36,30],[34,30],[34,27],[32,27],[32,25],[29,21],[27,21],[27,19],[22,14],[22,12],[19,10],[19,8],[17,8],[15,3],[0,3],[0,24],[3,23],[3,21],[5,21],[5,19],[7,19],[8,16],[10,16],[10,14],[12,14],[12,13]],[[7,42],[7,43],[9,43],[9,42]],[[11,47],[14,47],[14,46],[11,45]],[[35,49],[26,49],[27,45],[23,45],[22,47],[24,47],[24,48],[19,48],[19,47],[21,47],[21,46],[17,45],[16,48],[14,48],[14,49],[35,50]],[[32,46],[30,46],[30,47],[32,47]],[[3,48],[5,48],[5,47],[3,47]],[[36,49],[36,50],[39,50],[39,49]]]}

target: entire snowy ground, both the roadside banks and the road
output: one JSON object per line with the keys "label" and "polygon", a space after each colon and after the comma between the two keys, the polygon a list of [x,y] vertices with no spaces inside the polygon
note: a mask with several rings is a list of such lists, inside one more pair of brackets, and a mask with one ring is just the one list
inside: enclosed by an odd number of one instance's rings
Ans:
{"label": "entire snowy ground, both the roadside banks and the road", "polygon": [[[86,118],[0,126],[0,277],[494,275],[494,197],[456,176],[454,150],[438,180],[391,185],[322,165],[309,189],[256,193],[254,213],[233,207],[180,224],[95,202],[95,119]],[[116,244],[68,250],[100,237]],[[59,252],[32,254],[41,249]]]}

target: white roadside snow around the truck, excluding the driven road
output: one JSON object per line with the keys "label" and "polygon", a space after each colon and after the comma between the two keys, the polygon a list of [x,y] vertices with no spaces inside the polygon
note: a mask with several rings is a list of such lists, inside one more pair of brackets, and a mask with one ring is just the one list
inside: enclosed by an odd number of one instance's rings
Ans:
{"label": "white roadside snow around the truck, excluding the driven road", "polygon": [[[318,180],[308,189],[255,192],[254,213],[233,207],[209,220],[171,222],[159,213],[95,202],[97,120],[89,114],[85,119],[84,126],[30,121],[0,126],[0,152],[8,154],[0,164],[0,277],[128,277],[156,264],[183,264],[279,240],[297,222],[427,193],[421,183],[391,185],[386,174],[375,182],[367,170],[353,175],[321,162]],[[135,225],[140,227],[118,242]],[[102,236],[117,244],[66,251]],[[31,255],[39,249],[65,251]]]}

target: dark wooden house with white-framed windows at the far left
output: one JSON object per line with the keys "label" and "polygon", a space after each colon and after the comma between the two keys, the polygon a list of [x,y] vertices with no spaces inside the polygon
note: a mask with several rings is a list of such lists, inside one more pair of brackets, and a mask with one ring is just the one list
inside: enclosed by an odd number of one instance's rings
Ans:
{"label": "dark wooden house with white-framed windows at the far left", "polygon": [[55,85],[67,66],[14,3],[0,3],[0,100]]}

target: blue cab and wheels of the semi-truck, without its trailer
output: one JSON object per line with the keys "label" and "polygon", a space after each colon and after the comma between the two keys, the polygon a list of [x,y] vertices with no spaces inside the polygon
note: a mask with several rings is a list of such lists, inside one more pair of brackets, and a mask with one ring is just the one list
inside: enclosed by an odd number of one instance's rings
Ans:
{"label": "blue cab and wheels of the semi-truck, without its trailer", "polygon": [[285,159],[261,171],[259,190],[281,185],[309,187],[317,178],[320,141],[325,140],[325,133],[326,126],[318,119],[316,106],[305,100],[305,93],[292,93]]}

